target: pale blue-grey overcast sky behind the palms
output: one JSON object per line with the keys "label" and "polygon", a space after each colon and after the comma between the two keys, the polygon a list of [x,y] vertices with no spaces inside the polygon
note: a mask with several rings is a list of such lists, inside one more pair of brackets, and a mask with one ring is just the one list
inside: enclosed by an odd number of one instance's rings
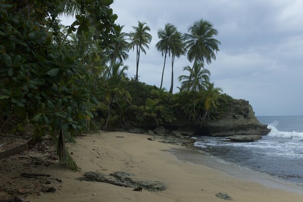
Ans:
{"label": "pale blue-grey overcast sky behind the palms", "polygon": [[[303,115],[303,1],[115,0],[112,8],[117,24],[125,25],[124,32],[138,20],[151,29],[149,50],[140,56],[140,81],[160,86],[164,58],[155,47],[159,28],[171,23],[185,33],[203,18],[219,31],[216,38],[221,41],[217,60],[205,65],[216,86],[234,98],[249,100],[257,116]],[[135,52],[129,52],[125,61],[129,77],[135,75],[135,60]],[[185,56],[175,60],[175,86],[186,65],[190,63]],[[170,79],[168,59],[167,89]]]}

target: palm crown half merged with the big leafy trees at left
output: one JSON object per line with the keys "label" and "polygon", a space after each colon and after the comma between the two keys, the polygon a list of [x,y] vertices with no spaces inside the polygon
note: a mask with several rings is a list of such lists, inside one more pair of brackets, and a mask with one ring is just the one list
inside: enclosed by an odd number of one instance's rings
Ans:
{"label": "palm crown half merged with the big leafy trees at left", "polygon": [[129,42],[126,41],[128,34],[122,32],[123,26],[119,26],[115,32],[115,38],[113,40],[112,48],[108,51],[108,59],[113,63],[118,60],[123,65],[123,60],[128,59],[128,46]]}

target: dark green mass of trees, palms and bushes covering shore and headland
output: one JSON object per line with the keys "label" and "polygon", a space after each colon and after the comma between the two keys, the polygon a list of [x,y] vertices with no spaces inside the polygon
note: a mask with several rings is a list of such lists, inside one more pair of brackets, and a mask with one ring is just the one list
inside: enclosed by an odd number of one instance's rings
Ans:
{"label": "dark green mass of trees, palms and bushes covering shore and headland", "polygon": [[[209,82],[210,71],[204,68],[204,60],[211,63],[216,58],[220,44],[210,23],[195,22],[190,34],[181,34],[169,23],[159,30],[163,70],[166,57],[171,57],[167,92],[162,88],[163,75],[160,88],[138,81],[140,53],[149,48],[150,28],[139,21],[134,32],[122,32],[123,26],[115,24],[118,16],[112,3],[0,0],[1,130],[9,124],[12,132],[31,133],[34,142],[51,135],[60,163],[74,170],[78,167],[65,143],[74,143],[77,134],[142,122],[160,126],[178,118],[201,124],[222,118],[232,102]],[[75,22],[62,26],[62,15],[74,15]],[[129,49],[137,56],[134,80],[127,77],[129,67],[124,66]],[[194,63],[184,67],[180,92],[172,94],[174,61],[184,54]]]}

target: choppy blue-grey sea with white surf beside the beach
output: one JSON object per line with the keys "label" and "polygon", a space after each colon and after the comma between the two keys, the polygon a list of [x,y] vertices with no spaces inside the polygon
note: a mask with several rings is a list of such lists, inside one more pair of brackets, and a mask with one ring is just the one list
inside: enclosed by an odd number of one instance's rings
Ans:
{"label": "choppy blue-grey sea with white surf beside the beach", "polygon": [[303,116],[257,117],[271,132],[255,142],[196,137],[195,146],[211,156],[303,185]]}

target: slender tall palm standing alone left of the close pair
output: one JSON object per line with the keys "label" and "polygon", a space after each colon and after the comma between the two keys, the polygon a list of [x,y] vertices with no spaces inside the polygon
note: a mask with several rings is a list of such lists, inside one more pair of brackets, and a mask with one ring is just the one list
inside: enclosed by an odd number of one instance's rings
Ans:
{"label": "slender tall palm standing alone left of the close pair", "polygon": [[138,21],[138,27],[134,27],[134,32],[129,34],[131,42],[129,44],[130,48],[135,49],[136,47],[136,78],[135,80],[138,81],[138,69],[139,69],[139,60],[140,60],[140,52],[142,51],[146,54],[144,47],[148,47],[148,44],[151,41],[151,35],[147,33],[150,31],[150,28],[146,25],[145,22]]}

